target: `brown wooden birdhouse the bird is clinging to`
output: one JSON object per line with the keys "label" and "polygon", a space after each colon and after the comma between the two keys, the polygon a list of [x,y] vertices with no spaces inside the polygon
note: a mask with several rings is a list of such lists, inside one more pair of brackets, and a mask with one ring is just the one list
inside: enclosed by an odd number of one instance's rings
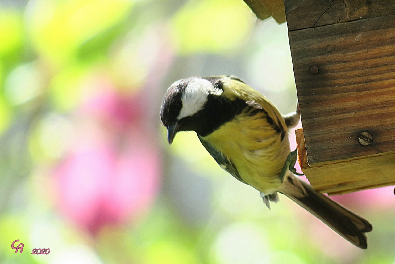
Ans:
{"label": "brown wooden birdhouse the bird is clinging to", "polygon": [[342,194],[394,185],[395,1],[248,2],[284,4],[299,161],[312,186]]}

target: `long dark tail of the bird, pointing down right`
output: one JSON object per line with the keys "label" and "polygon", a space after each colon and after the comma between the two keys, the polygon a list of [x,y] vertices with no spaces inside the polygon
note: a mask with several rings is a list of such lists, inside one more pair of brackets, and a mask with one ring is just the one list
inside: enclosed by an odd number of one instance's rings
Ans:
{"label": "long dark tail of the bird, pointing down right", "polygon": [[279,192],[322,220],[350,243],[362,249],[367,248],[364,233],[371,231],[372,225],[366,219],[317,192],[293,175],[284,179]]}

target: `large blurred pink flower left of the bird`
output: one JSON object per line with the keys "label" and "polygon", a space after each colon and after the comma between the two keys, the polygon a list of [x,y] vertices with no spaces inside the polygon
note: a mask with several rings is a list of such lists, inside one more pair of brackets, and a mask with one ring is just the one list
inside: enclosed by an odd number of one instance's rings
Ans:
{"label": "large blurred pink flower left of the bird", "polygon": [[138,101],[104,89],[87,102],[78,140],[55,170],[60,210],[92,234],[139,217],[158,192],[160,154]]}

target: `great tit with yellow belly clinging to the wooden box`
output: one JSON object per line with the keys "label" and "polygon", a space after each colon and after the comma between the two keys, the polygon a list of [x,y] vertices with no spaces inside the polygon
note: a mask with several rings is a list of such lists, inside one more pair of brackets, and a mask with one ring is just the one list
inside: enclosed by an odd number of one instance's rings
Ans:
{"label": "great tit with yellow belly clinging to the wooden box", "polygon": [[316,192],[290,170],[280,175],[290,154],[288,130],[299,112],[282,116],[276,106],[234,76],[191,77],[167,89],[161,108],[169,144],[179,131],[195,131],[220,167],[261,193],[264,203],[278,192],[307,209],[340,236],[366,249],[371,224]]}

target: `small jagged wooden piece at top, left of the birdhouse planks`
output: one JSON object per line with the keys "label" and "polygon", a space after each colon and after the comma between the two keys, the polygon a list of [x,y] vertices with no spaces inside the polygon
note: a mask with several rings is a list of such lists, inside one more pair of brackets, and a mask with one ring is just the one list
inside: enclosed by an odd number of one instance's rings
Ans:
{"label": "small jagged wooden piece at top, left of the birdhouse planks", "polygon": [[286,21],[283,0],[244,0],[261,20],[273,17],[278,24]]}

